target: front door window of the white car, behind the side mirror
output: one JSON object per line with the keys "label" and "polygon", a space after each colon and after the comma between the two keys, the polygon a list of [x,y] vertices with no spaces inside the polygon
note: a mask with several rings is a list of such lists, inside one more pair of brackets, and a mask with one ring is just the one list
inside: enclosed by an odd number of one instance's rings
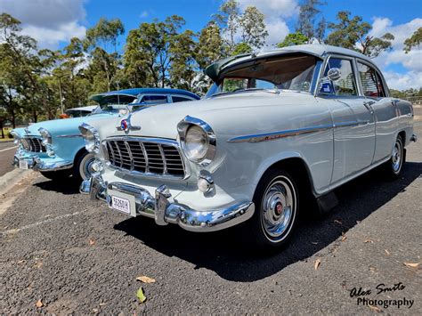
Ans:
{"label": "front door window of the white car, behind the side mirror", "polygon": [[[329,69],[340,69],[340,77],[335,80],[329,80]],[[321,93],[336,95],[358,95],[356,81],[353,74],[352,61],[339,58],[330,58],[324,70],[324,79],[321,82]]]}

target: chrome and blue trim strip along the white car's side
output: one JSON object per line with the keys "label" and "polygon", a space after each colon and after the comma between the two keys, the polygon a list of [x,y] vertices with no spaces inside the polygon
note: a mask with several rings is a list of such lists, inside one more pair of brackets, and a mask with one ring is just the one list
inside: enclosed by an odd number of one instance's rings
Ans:
{"label": "chrome and blue trim strip along the white car's side", "polygon": [[271,133],[249,134],[249,135],[237,136],[237,137],[231,138],[227,142],[266,142],[266,141],[277,140],[279,138],[321,132],[321,131],[329,130],[336,127],[363,126],[367,124],[369,124],[369,121],[342,122],[342,123],[337,123],[335,125],[312,126],[312,127],[290,129],[290,130],[271,132]]}

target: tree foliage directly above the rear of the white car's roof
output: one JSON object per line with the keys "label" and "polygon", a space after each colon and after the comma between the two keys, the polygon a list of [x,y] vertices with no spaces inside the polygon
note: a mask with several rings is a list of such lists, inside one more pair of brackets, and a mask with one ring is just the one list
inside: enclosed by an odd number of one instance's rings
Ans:
{"label": "tree foliage directly above the rear of the white car's roof", "polygon": [[394,40],[392,34],[386,33],[381,37],[369,36],[369,31],[372,28],[370,24],[362,21],[360,16],[355,16],[352,19],[349,16],[350,12],[338,12],[338,23],[329,23],[329,28],[333,31],[327,37],[327,44],[354,49],[370,58],[377,57],[379,53],[391,49]]}

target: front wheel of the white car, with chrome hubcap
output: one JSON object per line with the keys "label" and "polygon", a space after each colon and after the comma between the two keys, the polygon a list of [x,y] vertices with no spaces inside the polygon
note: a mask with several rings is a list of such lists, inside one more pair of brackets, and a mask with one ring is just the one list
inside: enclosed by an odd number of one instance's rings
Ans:
{"label": "front wheel of the white car, with chrome hubcap", "polygon": [[247,222],[248,236],[260,250],[283,247],[290,239],[299,213],[299,191],[287,171],[264,174],[254,196],[256,211]]}

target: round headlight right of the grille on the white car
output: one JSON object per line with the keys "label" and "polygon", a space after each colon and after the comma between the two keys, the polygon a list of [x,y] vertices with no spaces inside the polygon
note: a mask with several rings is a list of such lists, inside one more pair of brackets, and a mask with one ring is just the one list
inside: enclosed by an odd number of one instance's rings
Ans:
{"label": "round headlight right of the grille on the white car", "polygon": [[208,150],[208,135],[199,126],[191,126],[185,136],[186,156],[191,160],[205,158]]}

